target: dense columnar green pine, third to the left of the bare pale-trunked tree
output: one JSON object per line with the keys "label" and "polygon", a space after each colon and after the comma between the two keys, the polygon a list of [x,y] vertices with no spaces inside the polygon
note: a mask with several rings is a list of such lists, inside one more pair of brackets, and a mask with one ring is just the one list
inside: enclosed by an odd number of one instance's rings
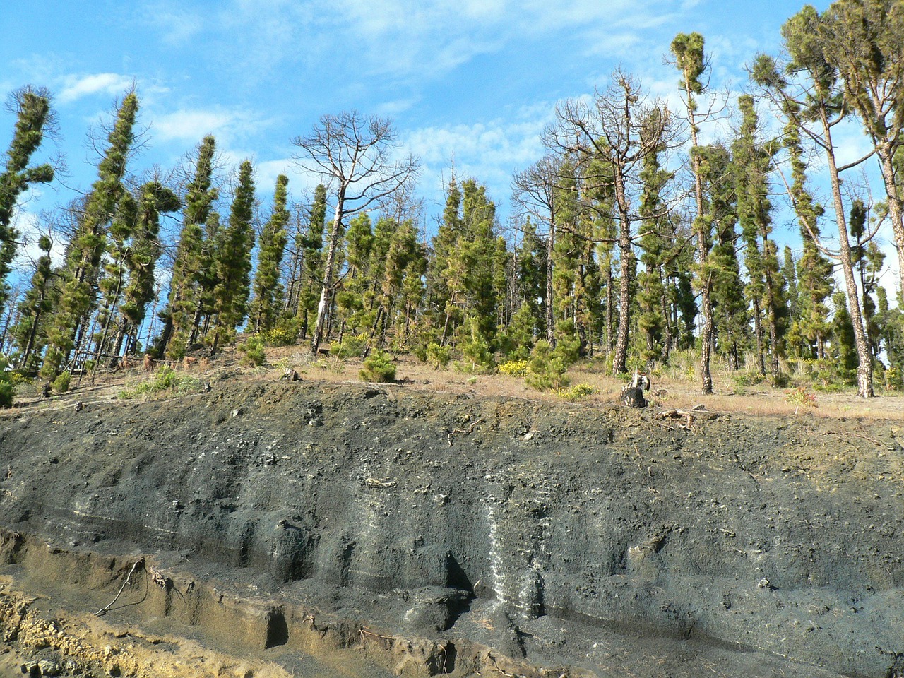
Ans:
{"label": "dense columnar green pine, third to the left of the bare pale-trunked tree", "polygon": [[236,327],[248,315],[251,250],[254,247],[254,180],[250,160],[239,167],[239,184],[232,197],[229,225],[218,233],[216,285],[213,287],[213,312],[216,314],[211,354],[231,338]]}

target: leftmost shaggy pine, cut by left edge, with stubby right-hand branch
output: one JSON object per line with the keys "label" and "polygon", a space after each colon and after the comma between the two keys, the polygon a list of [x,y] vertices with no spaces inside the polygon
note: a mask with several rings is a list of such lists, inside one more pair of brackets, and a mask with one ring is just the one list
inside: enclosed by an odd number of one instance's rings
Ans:
{"label": "leftmost shaggy pine, cut by left edge, with stubby right-hand branch", "polygon": [[13,228],[16,201],[32,184],[53,181],[51,165],[29,165],[52,121],[50,93],[46,89],[24,87],[13,93],[10,102],[17,117],[4,171],[0,173],[0,306],[5,305],[9,296],[6,277],[12,270],[19,238]]}

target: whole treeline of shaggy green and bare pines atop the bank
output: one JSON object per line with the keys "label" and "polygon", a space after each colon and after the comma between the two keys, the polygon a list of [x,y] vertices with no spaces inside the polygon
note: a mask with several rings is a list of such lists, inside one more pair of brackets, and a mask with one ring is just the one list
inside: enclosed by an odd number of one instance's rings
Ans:
{"label": "whole treeline of shaggy green and bare pines atop the bank", "polygon": [[[97,180],[42,223],[42,253],[14,294],[16,204],[54,174],[32,164],[52,96],[20,89],[0,174],[0,349],[50,381],[137,353],[216,353],[243,329],[251,344],[407,352],[475,371],[531,360],[555,374],[598,357],[619,373],[695,350],[704,392],[714,360],[778,385],[798,359],[863,396],[876,381],[901,388],[904,313],[879,284],[875,236],[890,224],[904,280],[904,7],[807,5],[782,35],[784,55],[759,55],[736,102],[711,91],[699,33],[671,44],[679,109],[624,71],[591,98],[561,101],[546,155],[513,176],[512,219],[501,224],[485,186],[453,172],[429,236],[413,197],[418,159],[400,155],[384,119],[321,118],[292,143],[322,183],[290,202],[280,175],[260,206],[251,162],[224,182],[214,137],[181,181],[137,173],[140,102],[128,91]],[[728,103],[730,136],[703,143],[725,127]],[[839,159],[841,123],[862,129],[869,155]],[[863,179],[870,163],[876,186]],[[777,205],[795,215],[795,250],[773,235]],[[172,241],[165,215],[180,224]]]}

